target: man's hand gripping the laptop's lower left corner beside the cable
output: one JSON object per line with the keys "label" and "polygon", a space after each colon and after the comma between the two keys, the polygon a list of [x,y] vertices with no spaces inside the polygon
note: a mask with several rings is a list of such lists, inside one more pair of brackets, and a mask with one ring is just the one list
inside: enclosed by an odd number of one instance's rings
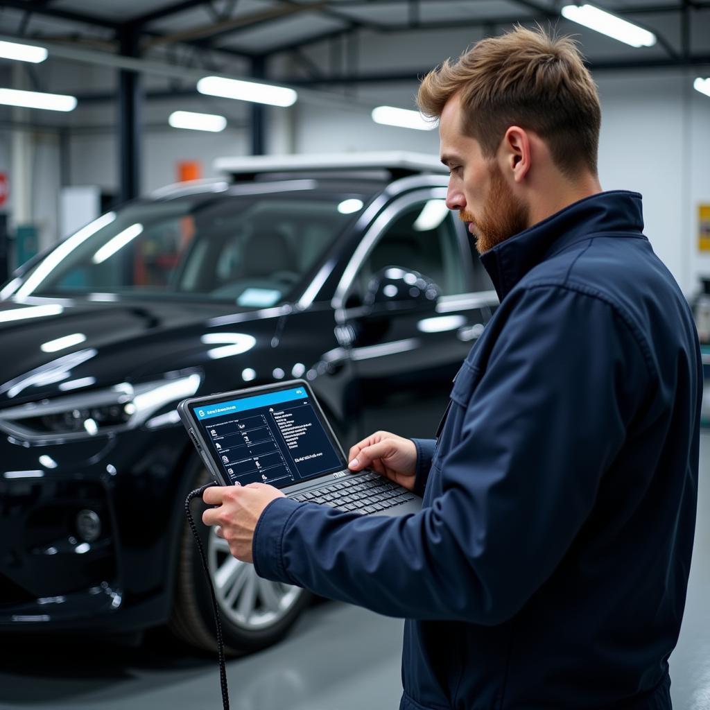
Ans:
{"label": "man's hand gripping the laptop's lower left corner beside the cable", "polygon": [[256,523],[264,508],[275,498],[285,496],[278,488],[266,484],[248,486],[211,486],[202,493],[208,508],[202,513],[205,525],[219,525],[217,535],[229,542],[229,551],[242,562],[253,562],[251,542]]}

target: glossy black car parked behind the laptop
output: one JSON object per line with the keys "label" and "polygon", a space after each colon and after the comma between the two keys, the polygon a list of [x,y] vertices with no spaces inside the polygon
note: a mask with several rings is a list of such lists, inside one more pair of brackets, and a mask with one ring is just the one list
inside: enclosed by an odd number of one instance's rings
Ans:
{"label": "glossy black car parked behind the laptop", "polygon": [[[5,285],[2,630],[168,623],[214,648],[182,398],[303,377],[346,448],[432,435],[497,299],[447,177],[389,158],[224,165],[229,180],[104,214]],[[273,643],[307,593],[203,534],[226,645]]]}

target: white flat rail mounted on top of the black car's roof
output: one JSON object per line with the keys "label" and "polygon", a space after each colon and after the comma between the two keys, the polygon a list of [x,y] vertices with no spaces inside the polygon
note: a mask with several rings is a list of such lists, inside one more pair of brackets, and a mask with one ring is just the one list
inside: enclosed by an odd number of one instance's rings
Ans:
{"label": "white flat rail mounted on top of the black car's roof", "polygon": [[247,155],[217,158],[214,170],[233,180],[255,180],[266,173],[389,173],[393,180],[422,173],[448,173],[435,155],[409,151],[320,153],[304,155]]}

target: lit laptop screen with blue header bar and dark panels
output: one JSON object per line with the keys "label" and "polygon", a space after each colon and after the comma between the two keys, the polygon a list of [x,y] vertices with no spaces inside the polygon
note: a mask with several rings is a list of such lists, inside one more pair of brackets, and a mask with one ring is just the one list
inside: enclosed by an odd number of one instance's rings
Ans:
{"label": "lit laptop screen with blue header bar and dark panels", "polygon": [[305,386],[192,404],[190,409],[211,444],[209,453],[233,484],[283,488],[345,466]]}

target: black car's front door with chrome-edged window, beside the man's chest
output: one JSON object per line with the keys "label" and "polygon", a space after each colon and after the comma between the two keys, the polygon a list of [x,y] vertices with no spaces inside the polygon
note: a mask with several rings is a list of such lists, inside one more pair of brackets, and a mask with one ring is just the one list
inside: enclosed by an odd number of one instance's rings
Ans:
{"label": "black car's front door with chrome-edged window, beside the man's chest", "polygon": [[[433,436],[452,378],[497,302],[491,290],[471,290],[476,274],[479,283],[484,280],[474,271],[468,240],[445,197],[446,189],[437,187],[392,202],[366,231],[346,270],[353,275],[344,285],[339,320],[351,338],[363,435],[385,429]],[[378,279],[398,272],[412,283],[411,302],[373,308]],[[422,299],[417,285],[430,282],[439,294]]]}

